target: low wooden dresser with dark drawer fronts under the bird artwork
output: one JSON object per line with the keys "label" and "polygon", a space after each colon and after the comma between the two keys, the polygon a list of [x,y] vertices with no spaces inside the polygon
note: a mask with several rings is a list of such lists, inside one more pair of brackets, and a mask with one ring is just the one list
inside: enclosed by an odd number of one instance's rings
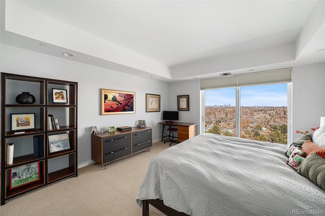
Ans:
{"label": "low wooden dresser with dark drawer fronts under the bird artwork", "polygon": [[152,146],[152,128],[133,127],[128,131],[91,134],[91,159],[106,165],[121,158],[149,149]]}

